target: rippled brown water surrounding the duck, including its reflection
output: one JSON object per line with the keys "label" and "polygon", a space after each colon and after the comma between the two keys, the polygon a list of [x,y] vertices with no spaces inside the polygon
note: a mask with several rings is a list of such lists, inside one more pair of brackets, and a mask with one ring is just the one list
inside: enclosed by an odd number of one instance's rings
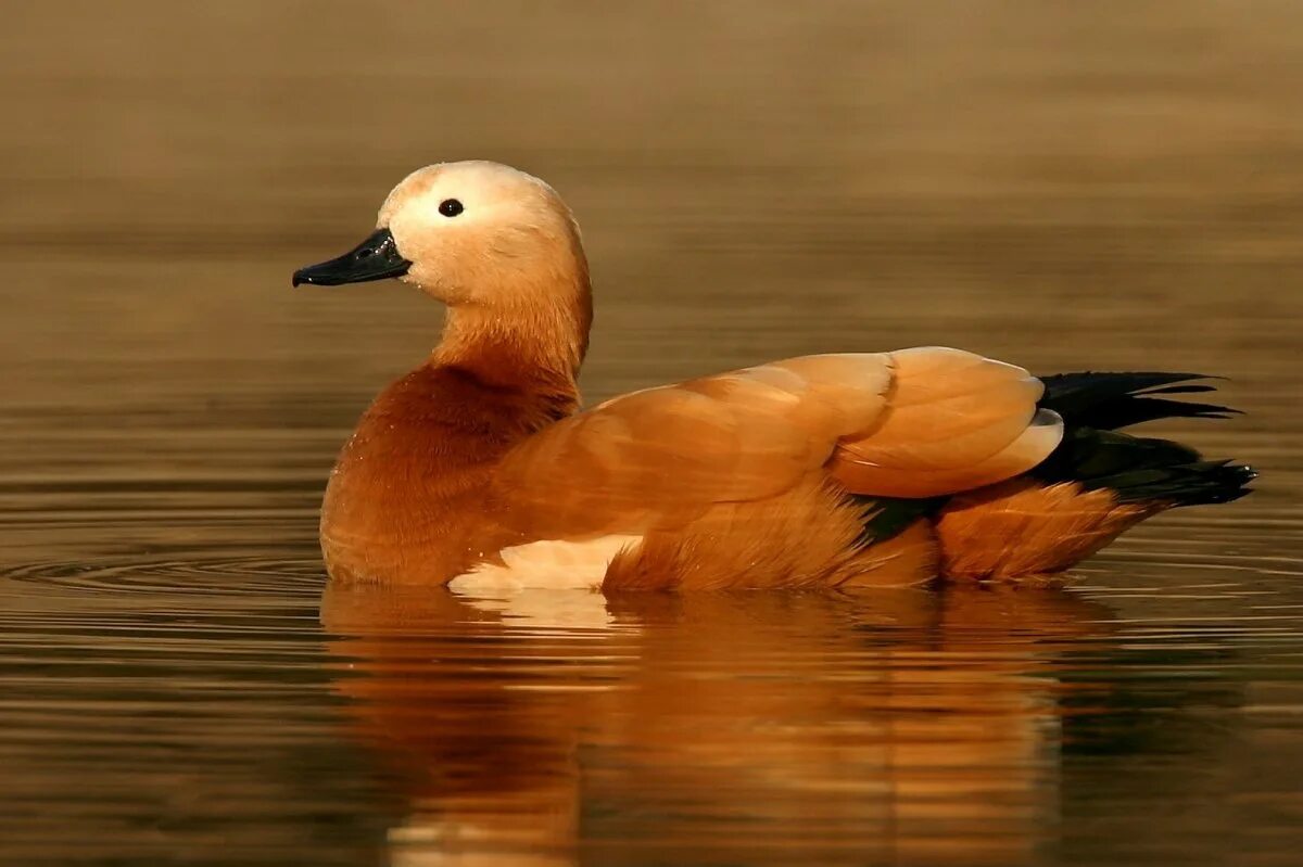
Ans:
{"label": "rippled brown water surrounding the duck, including its reflection", "polygon": [[[0,33],[0,862],[1289,864],[1303,12],[22,7]],[[829,349],[1208,370],[1263,471],[1067,591],[324,596],[439,312],[294,290],[437,159],[585,227],[590,400]]]}

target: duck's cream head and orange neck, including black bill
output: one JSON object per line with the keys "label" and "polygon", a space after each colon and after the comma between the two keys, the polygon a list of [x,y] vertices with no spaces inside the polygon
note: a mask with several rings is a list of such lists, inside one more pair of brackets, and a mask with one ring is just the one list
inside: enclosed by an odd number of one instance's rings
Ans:
{"label": "duck's cream head and orange neck, including black bill", "polygon": [[593,319],[588,262],[569,208],[538,178],[485,161],[413,172],[384,200],[374,233],[292,282],[390,277],[448,305],[431,363],[503,381],[577,375]]}

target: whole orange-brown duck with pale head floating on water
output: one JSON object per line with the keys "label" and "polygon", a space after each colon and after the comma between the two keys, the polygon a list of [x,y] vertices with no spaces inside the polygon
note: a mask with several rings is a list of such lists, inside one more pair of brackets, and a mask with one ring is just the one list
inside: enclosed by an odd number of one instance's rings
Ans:
{"label": "whole orange-brown duck with pale head floating on water", "polygon": [[1044,583],[1255,471],[1122,428],[1226,418],[1208,378],[1068,372],[942,346],[804,355],[584,407],[593,293],[562,197],[491,161],[421,168],[292,284],[396,279],[446,306],[430,355],[330,475],[335,582],[463,594]]}

